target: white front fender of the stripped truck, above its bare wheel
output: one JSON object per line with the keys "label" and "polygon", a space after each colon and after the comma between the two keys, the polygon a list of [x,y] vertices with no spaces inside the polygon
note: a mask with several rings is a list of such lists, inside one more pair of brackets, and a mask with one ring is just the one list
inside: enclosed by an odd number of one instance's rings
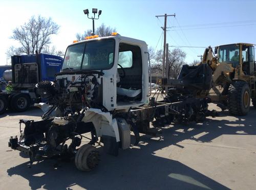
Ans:
{"label": "white front fender of the stripped truck, above its bare wheel", "polygon": [[92,122],[96,136],[101,137],[110,136],[116,139],[116,142],[120,142],[119,131],[116,119],[112,119],[112,115],[109,112],[102,112],[100,109],[90,108],[84,115],[83,122]]}

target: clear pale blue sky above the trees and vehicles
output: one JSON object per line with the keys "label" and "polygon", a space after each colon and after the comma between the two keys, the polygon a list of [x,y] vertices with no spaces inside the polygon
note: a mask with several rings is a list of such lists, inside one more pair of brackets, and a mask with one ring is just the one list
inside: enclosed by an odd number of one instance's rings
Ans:
{"label": "clear pale blue sky above the trees and vehicles", "polygon": [[[171,27],[166,35],[169,45],[204,47],[236,42],[256,44],[256,0],[0,0],[0,5],[0,65],[6,64],[5,52],[8,47],[18,45],[9,38],[12,30],[32,15],[52,17],[61,26],[58,35],[52,37],[52,42],[58,50],[65,51],[66,47],[76,40],[77,32],[92,29],[92,20],[83,14],[83,9],[89,9],[91,12],[92,8],[102,10],[99,20],[95,20],[95,27],[101,23],[110,25],[122,36],[144,40],[148,46],[156,49],[162,49],[160,27],[164,24],[164,18],[158,19],[155,16],[165,13],[176,14],[176,18],[167,19],[167,27]],[[226,24],[220,24],[223,22]],[[187,53],[187,63],[199,59],[197,56],[204,51],[204,48],[181,49]]]}

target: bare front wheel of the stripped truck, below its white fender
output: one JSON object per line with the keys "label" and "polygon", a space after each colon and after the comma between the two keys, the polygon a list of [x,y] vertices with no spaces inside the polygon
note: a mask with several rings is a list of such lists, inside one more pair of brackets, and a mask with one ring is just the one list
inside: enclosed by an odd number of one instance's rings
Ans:
{"label": "bare front wheel of the stripped truck, below its white fender", "polygon": [[98,166],[98,163],[99,153],[94,146],[86,144],[76,152],[75,165],[78,170],[89,172]]}

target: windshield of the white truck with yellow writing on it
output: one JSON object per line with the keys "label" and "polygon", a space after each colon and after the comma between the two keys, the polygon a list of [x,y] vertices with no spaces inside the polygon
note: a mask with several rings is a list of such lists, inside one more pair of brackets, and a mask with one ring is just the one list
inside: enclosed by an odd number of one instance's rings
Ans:
{"label": "windshield of the white truck with yellow writing on it", "polygon": [[115,40],[95,40],[68,47],[62,70],[103,70],[114,64]]}

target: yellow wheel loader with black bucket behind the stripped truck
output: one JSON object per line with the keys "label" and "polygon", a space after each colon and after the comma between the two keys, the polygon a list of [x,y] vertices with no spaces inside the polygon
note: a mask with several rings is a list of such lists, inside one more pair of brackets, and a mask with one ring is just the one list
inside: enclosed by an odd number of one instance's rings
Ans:
{"label": "yellow wheel loader with black bucket behind the stripped truck", "polygon": [[159,83],[172,87],[168,98],[173,101],[187,94],[208,97],[222,110],[242,116],[249,112],[250,99],[256,107],[255,71],[254,44],[220,45],[215,53],[209,46],[199,64],[183,65],[177,79],[162,78]]}

